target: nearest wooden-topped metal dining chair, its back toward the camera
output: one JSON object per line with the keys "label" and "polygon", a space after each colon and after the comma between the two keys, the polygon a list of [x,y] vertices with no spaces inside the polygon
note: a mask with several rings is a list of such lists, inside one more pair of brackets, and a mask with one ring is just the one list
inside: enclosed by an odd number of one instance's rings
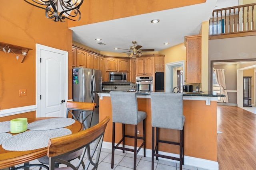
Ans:
{"label": "nearest wooden-topped metal dining chair, its back toward the camera", "polygon": [[[78,170],[84,158],[84,155],[86,154],[86,150],[87,150],[89,161],[87,162],[86,167],[84,169],[88,170],[90,164],[94,166],[92,168],[93,170],[97,169],[104,132],[109,120],[110,118],[107,116],[103,121],[101,121],[100,123],[98,123],[97,125],[89,129],[85,129],[83,131],[80,131],[71,135],[50,139],[49,145],[48,145],[48,152],[47,152],[47,156],[50,159],[50,164],[49,164],[50,170],[54,170],[55,162],[67,165],[67,167],[56,168],[56,169]],[[94,145],[92,152],[90,152],[90,150],[88,149],[88,146],[93,142],[96,142],[96,144]],[[92,157],[94,156],[97,147],[98,147],[98,151],[97,151],[96,160],[92,160]],[[83,149],[83,153],[80,156],[79,161],[75,165],[73,165],[72,163],[66,160],[60,159],[61,157],[66,156],[80,149]]]}

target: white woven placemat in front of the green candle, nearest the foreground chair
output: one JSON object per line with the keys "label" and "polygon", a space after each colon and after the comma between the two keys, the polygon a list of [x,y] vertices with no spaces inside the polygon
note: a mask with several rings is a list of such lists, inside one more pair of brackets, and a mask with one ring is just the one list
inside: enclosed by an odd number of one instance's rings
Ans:
{"label": "white woven placemat in front of the green candle, nearest the foreground chair", "polygon": [[45,130],[45,131],[26,131],[7,139],[2,143],[5,150],[25,151],[48,147],[51,138],[70,135],[72,132],[66,128]]}

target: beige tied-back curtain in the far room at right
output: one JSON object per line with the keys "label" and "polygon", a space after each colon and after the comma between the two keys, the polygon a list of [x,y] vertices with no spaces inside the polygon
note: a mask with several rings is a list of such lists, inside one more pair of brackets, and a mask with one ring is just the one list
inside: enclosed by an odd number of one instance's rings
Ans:
{"label": "beige tied-back curtain in the far room at right", "polygon": [[221,100],[225,103],[228,103],[228,93],[226,90],[226,82],[225,82],[225,70],[224,69],[216,69],[215,75],[216,75],[216,81],[218,85],[220,86],[220,93],[224,94],[226,97],[222,98]]}

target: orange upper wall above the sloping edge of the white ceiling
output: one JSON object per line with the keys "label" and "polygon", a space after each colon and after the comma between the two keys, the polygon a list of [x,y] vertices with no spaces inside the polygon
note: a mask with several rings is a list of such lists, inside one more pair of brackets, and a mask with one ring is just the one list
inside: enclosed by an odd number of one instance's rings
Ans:
{"label": "orange upper wall above the sloping edge of the white ceiling", "polygon": [[182,6],[204,3],[206,0],[84,0],[81,20],[68,27],[86,25]]}

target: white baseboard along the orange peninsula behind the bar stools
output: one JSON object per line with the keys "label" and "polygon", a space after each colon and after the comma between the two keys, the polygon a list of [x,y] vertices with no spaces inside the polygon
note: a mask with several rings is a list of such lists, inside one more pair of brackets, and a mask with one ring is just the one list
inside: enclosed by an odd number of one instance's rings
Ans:
{"label": "white baseboard along the orange peninsula behind the bar stools", "polygon": [[[131,146],[125,146],[125,147],[133,149],[133,147],[131,147]],[[102,143],[102,148],[111,150],[112,149],[112,143],[103,142]],[[129,151],[126,151],[126,152],[129,152]],[[165,154],[165,155],[168,155],[168,156],[179,157],[178,154],[173,154],[173,153],[168,153],[168,152],[159,151],[158,153]],[[141,149],[140,152],[138,152],[138,155],[143,156],[143,149]],[[151,149],[146,149],[146,157],[151,158],[151,155],[152,155]],[[176,161],[176,160],[170,160],[170,159],[159,158],[159,157],[158,157],[158,159],[178,163],[178,161]],[[184,155],[184,164],[185,165],[190,165],[190,166],[196,166],[196,167],[200,167],[200,168],[204,168],[204,169],[208,169],[208,170],[218,170],[219,169],[219,164],[216,161],[206,160],[206,159],[201,159],[201,158],[195,158],[195,157],[186,156],[186,155]]]}

